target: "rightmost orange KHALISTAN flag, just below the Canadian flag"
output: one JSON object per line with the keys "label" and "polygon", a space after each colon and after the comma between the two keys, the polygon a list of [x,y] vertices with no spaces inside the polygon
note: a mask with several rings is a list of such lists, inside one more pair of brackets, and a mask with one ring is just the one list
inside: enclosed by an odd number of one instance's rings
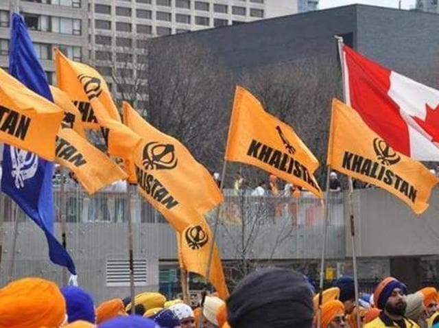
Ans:
{"label": "rightmost orange KHALISTAN flag, just below the Canadian flag", "polygon": [[393,150],[358,113],[333,99],[327,164],[403,200],[417,214],[439,182],[421,163]]}

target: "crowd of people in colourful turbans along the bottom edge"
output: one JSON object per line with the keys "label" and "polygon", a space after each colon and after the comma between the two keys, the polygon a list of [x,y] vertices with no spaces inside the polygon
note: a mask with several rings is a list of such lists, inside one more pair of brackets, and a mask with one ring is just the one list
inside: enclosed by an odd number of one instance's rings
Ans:
{"label": "crowd of people in colourful turbans along the bottom edge", "polygon": [[430,286],[407,294],[403,282],[387,277],[356,301],[351,277],[316,293],[299,272],[265,268],[244,277],[228,299],[210,294],[195,309],[156,292],[95,307],[80,287],[24,278],[0,289],[0,328],[6,327],[439,328],[438,291]]}

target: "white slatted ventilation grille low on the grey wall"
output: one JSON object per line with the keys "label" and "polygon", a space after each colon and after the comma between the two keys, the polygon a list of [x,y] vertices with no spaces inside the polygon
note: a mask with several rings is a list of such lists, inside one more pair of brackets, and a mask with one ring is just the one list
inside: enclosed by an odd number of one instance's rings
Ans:
{"label": "white slatted ventilation grille low on the grey wall", "polygon": [[[130,262],[128,259],[107,259],[106,284],[109,287],[130,285]],[[146,259],[134,259],[134,285],[147,285]]]}

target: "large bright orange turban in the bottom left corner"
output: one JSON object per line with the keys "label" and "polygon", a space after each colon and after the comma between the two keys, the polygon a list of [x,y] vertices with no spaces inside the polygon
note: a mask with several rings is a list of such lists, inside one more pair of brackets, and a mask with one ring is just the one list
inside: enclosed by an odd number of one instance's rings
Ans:
{"label": "large bright orange turban in the bottom left corner", "polygon": [[0,290],[0,328],[59,327],[66,302],[58,286],[40,278],[24,278]]}

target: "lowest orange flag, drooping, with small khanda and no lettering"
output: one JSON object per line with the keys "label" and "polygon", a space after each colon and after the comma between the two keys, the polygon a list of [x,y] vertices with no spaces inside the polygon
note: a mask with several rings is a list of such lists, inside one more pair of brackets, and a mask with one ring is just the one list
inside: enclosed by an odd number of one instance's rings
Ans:
{"label": "lowest orange flag, drooping, with small khanda and no lettering", "polygon": [[[209,247],[211,245],[212,232],[204,218],[187,226],[180,236],[180,253],[182,265],[189,272],[195,272],[205,277],[209,261]],[[228,288],[224,278],[221,255],[215,244],[209,280],[217,290],[219,297],[228,298]]]}

